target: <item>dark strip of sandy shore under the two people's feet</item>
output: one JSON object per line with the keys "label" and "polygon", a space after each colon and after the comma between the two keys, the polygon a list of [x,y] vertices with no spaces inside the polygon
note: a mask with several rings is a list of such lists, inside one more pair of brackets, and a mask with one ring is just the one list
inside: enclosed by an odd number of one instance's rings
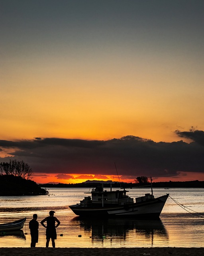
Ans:
{"label": "dark strip of sandy shore under the two people's feet", "polygon": [[0,248],[1,256],[140,256],[140,255],[177,255],[202,256],[204,248]]}

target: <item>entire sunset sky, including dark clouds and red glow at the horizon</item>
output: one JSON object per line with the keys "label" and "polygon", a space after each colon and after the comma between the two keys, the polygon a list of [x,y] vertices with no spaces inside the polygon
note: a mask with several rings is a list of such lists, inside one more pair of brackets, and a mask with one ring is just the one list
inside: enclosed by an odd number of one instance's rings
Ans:
{"label": "entire sunset sky, including dark clouds and red glow at the horizon", "polygon": [[0,0],[0,162],[204,180],[203,28],[203,0]]}

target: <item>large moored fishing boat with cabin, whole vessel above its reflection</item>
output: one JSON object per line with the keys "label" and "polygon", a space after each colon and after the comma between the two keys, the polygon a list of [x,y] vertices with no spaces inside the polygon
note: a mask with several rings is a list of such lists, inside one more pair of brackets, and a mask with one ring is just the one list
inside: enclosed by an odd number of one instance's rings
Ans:
{"label": "large moored fishing boat with cabin, whole vessel above its reflection", "polygon": [[78,216],[82,217],[134,217],[143,219],[159,218],[165,202],[169,196],[159,196],[155,198],[152,194],[130,198],[124,190],[110,191],[103,187],[92,188],[91,196],[84,197],[78,204],[70,205],[69,208]]}

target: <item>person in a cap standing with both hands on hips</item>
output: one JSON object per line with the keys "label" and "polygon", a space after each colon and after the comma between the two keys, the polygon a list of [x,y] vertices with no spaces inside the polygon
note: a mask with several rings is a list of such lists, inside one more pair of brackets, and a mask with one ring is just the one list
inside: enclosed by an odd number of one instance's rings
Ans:
{"label": "person in a cap standing with both hands on hips", "polygon": [[[55,248],[55,239],[57,239],[57,232],[56,228],[59,226],[60,221],[54,217],[54,211],[49,212],[49,216],[44,218],[44,220],[41,220],[40,224],[43,225],[44,228],[46,228],[46,247],[49,247],[49,241],[51,238],[52,246]],[[44,222],[47,222],[47,226],[45,226]],[[55,226],[55,222],[57,222],[57,225]]]}

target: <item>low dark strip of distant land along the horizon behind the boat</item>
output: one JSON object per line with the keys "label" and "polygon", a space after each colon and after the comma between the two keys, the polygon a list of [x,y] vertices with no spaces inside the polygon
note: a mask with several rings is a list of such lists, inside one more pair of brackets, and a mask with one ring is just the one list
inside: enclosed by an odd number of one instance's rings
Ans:
{"label": "low dark strip of distant land along the horizon behind the boat", "polygon": [[[90,188],[90,187],[96,187],[100,186],[102,182],[90,182],[90,183],[76,183],[76,184],[51,184],[51,183],[45,183],[45,184],[39,184],[41,188]],[[119,183],[119,182],[113,182],[110,183],[103,183],[104,188],[110,188],[110,185],[112,188],[136,188],[139,187],[139,184],[136,183]],[[150,183],[145,183],[143,186],[150,186]],[[204,181],[199,180],[193,180],[193,181],[169,181],[169,182],[153,182],[152,183],[153,188],[204,188]]]}

